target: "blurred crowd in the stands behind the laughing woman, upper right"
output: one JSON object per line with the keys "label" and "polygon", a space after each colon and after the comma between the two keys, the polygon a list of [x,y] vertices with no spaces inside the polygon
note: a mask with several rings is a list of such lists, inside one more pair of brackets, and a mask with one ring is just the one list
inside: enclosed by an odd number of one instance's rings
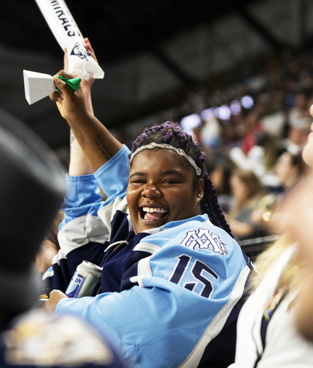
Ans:
{"label": "blurred crowd in the stands behind the laughing woman, upper right", "polygon": [[[244,63],[217,87],[191,94],[173,116],[206,151],[220,205],[237,239],[270,234],[271,209],[304,174],[301,150],[312,123],[312,103],[313,55],[284,53]],[[251,217],[248,212],[244,217],[251,231],[242,234],[240,221],[234,221],[235,209],[247,209],[235,194],[234,177],[242,184],[233,172],[238,169],[259,193],[252,200],[245,184]]]}

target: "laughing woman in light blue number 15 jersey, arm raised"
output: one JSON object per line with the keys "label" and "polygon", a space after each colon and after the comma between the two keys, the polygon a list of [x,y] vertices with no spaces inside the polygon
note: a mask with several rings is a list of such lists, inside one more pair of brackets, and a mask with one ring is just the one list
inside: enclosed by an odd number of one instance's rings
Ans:
{"label": "laughing woman in light blue number 15 jersey, arm raised", "polygon": [[199,144],[166,122],[144,130],[130,152],[86,111],[80,88],[58,87],[62,95],[51,99],[95,173],[67,175],[61,251],[45,279],[64,291],[83,260],[102,274],[95,297],[54,290],[46,309],[88,320],[131,367],[227,367],[252,267],[218,206]]}

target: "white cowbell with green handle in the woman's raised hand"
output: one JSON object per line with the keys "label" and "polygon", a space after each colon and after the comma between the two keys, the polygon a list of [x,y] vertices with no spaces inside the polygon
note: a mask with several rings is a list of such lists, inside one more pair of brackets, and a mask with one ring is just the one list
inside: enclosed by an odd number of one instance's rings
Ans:
{"label": "white cowbell with green handle in the woman's raised hand", "polygon": [[81,82],[80,78],[66,79],[61,76],[52,77],[48,74],[24,70],[25,97],[29,105],[47,97],[54,91],[59,91],[59,88],[54,84],[54,77],[62,79],[74,91],[76,91],[79,83]]}

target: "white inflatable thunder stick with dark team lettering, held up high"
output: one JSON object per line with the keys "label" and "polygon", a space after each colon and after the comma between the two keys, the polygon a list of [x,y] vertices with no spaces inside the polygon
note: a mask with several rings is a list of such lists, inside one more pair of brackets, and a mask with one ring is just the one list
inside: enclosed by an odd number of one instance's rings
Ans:
{"label": "white inflatable thunder stick with dark team lettering, held up high", "polygon": [[104,72],[87,52],[84,38],[64,0],[36,0],[61,49],[67,49],[69,73],[89,80]]}

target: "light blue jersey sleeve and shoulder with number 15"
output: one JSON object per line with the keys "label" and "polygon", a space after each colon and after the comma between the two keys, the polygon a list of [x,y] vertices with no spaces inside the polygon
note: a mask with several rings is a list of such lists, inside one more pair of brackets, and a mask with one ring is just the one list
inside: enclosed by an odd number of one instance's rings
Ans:
{"label": "light blue jersey sleeve and shoulder with number 15", "polygon": [[63,299],[56,313],[82,316],[132,367],[197,367],[205,351],[214,356],[218,338],[226,344],[220,361],[229,358],[228,327],[250,272],[240,246],[206,214],[144,233],[127,244],[129,257],[120,250],[120,262],[139,260],[122,275],[122,291]]}

